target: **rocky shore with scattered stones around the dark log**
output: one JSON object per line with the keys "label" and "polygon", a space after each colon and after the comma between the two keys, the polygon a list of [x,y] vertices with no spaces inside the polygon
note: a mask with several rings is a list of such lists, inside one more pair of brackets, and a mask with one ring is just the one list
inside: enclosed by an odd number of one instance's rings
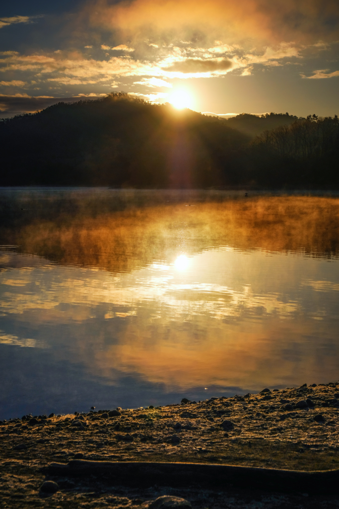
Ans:
{"label": "rocky shore with scattered stones around the dark log", "polygon": [[[336,500],[333,494],[272,494],[262,487],[253,491],[244,486],[239,491],[228,486],[226,492],[216,492],[199,488],[194,479],[181,488],[166,482],[155,486],[151,478],[144,486],[112,486],[105,476],[93,472],[76,478],[48,470],[53,463],[66,465],[80,459],[336,470],[338,400],[336,382],[201,402],[183,399],[156,408],[93,409],[87,414],[25,415],[0,421],[2,506],[149,507],[157,497],[172,495],[187,499],[194,509],[257,507],[259,502],[264,508],[289,508],[296,503],[339,507],[339,493]],[[55,493],[41,490],[46,480],[56,483]]]}

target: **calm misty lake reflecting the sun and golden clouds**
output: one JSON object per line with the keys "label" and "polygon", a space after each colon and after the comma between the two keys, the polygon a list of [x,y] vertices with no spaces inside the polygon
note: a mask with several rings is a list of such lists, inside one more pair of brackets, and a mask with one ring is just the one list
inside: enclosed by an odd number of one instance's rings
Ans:
{"label": "calm misty lake reflecting the sun and golden clouds", "polygon": [[339,199],[0,190],[0,419],[338,379]]}

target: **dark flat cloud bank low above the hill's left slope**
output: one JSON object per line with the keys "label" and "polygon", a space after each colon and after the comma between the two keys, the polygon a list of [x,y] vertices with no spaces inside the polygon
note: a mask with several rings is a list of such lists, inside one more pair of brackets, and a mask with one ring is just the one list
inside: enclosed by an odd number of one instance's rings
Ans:
{"label": "dark flat cloud bank low above the hill's left slope", "polygon": [[98,99],[98,97],[30,97],[28,95],[11,96],[0,94],[0,118],[5,119],[25,113],[35,113],[58,102],[77,102],[81,99]]}

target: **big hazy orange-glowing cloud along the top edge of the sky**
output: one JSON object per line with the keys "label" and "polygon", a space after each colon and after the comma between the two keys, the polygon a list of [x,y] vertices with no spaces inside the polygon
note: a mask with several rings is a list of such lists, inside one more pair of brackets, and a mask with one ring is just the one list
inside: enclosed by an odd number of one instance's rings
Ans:
{"label": "big hazy orange-glowing cloud along the top edge of the sky", "polygon": [[279,44],[339,39],[337,0],[132,0],[87,4],[93,26],[159,44],[207,41],[211,35],[227,44],[261,41]]}

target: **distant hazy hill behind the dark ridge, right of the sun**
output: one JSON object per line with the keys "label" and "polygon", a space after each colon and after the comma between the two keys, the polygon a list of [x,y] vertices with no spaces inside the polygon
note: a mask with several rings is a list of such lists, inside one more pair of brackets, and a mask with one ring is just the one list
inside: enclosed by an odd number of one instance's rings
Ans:
{"label": "distant hazy hill behind the dark ridge, right of the sun", "polygon": [[264,115],[251,115],[248,113],[241,113],[236,117],[225,119],[227,125],[232,129],[247,134],[248,136],[258,136],[264,131],[275,129],[283,125],[293,124],[298,119],[294,115],[288,113],[266,113]]}

